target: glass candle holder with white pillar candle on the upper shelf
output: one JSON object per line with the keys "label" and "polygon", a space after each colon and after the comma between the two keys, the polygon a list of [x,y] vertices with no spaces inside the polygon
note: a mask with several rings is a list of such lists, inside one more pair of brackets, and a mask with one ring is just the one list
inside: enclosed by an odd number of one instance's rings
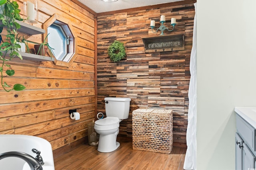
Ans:
{"label": "glass candle holder with white pillar candle on the upper shelf", "polygon": [[38,23],[38,2],[37,0],[24,0],[24,20],[31,25]]}

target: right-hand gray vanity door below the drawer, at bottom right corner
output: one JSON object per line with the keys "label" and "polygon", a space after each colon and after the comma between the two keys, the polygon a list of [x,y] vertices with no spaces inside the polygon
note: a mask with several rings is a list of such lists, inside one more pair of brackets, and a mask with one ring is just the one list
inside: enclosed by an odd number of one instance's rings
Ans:
{"label": "right-hand gray vanity door below the drawer, at bottom right corner", "polygon": [[252,154],[248,146],[244,143],[243,145],[243,156],[242,156],[242,166],[243,170],[255,168],[255,156]]}

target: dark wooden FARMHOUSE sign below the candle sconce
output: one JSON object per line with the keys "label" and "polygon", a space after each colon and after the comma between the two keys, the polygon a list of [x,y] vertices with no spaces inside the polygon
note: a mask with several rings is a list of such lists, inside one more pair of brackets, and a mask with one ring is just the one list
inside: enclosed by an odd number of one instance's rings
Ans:
{"label": "dark wooden FARMHOUSE sign below the candle sconce", "polygon": [[158,37],[142,38],[145,52],[184,50],[184,35],[161,35]]}

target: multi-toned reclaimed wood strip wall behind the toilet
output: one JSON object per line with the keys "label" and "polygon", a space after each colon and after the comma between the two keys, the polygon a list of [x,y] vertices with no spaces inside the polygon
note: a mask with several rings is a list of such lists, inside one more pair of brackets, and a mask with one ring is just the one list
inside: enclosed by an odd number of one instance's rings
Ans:
{"label": "multi-toned reclaimed wood strip wall behind the toilet", "polygon": [[[172,109],[174,142],[186,143],[194,14],[194,4],[190,2],[98,15],[98,112],[105,113],[105,97],[132,99],[129,118],[120,122],[120,134],[132,137],[132,111],[135,109]],[[160,15],[166,16],[164,25],[169,28],[171,18],[176,18],[175,30],[165,30],[164,34],[184,34],[184,50],[145,53],[142,38],[160,36],[160,32],[152,33],[149,27],[150,20],[156,20],[156,28],[160,26]],[[107,54],[114,40],[123,42],[127,52],[127,57],[118,63],[111,62]]]}

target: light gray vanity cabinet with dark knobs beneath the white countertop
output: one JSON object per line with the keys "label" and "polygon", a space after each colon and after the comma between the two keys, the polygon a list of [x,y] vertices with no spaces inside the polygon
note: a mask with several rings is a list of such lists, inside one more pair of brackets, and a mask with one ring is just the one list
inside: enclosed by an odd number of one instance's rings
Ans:
{"label": "light gray vanity cabinet with dark knobs beneath the white countertop", "polygon": [[237,113],[236,130],[236,170],[255,169],[256,128]]}

